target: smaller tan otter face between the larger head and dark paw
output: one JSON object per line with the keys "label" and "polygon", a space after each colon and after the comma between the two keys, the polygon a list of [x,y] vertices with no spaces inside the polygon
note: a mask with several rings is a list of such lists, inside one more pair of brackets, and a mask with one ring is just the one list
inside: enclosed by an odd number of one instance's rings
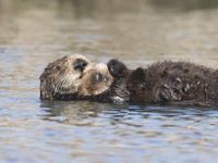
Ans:
{"label": "smaller tan otter face between the larger head and dark paw", "polygon": [[77,92],[78,97],[101,95],[110,88],[112,83],[113,77],[110,75],[106,64],[89,64],[82,76]]}

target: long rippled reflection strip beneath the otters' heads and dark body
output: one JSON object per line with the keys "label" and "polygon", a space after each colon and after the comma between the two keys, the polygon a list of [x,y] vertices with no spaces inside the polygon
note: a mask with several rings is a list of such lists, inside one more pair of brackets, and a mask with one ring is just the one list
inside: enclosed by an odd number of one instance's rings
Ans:
{"label": "long rippled reflection strip beneath the otters' heads and dark body", "polygon": [[[145,105],[111,105],[108,103],[96,103],[89,101],[41,101],[41,109],[44,109],[47,114],[44,115],[47,121],[57,121],[66,124],[82,123],[83,121],[92,118],[102,117],[108,118],[111,124],[113,121],[122,121],[129,116],[131,120],[133,116],[138,116],[140,118],[149,118],[150,116],[164,117],[164,118],[181,118],[190,120],[193,117],[207,118],[214,113],[216,109],[214,108],[181,108],[181,106],[145,106]],[[85,124],[87,125],[87,124]],[[142,124],[141,124],[142,125]],[[138,124],[138,126],[141,126]],[[172,124],[173,125],[173,124]]]}

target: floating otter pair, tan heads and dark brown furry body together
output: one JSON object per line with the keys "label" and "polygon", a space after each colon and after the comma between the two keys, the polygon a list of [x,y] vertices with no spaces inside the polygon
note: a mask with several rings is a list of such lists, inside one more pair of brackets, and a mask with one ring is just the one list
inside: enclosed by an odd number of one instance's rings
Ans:
{"label": "floating otter pair, tan heads and dark brown furry body together", "polygon": [[41,100],[215,105],[217,95],[218,71],[186,62],[129,70],[118,60],[106,65],[74,54],[48,64],[40,76]]}

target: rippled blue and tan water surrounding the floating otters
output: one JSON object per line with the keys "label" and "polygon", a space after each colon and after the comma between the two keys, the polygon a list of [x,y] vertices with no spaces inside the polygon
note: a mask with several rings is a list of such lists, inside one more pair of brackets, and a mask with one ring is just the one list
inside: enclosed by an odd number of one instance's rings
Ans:
{"label": "rippled blue and tan water surrounding the floating otters", "polygon": [[215,0],[0,0],[0,162],[216,162],[217,108],[39,100],[39,75],[71,53],[130,67],[218,67]]}

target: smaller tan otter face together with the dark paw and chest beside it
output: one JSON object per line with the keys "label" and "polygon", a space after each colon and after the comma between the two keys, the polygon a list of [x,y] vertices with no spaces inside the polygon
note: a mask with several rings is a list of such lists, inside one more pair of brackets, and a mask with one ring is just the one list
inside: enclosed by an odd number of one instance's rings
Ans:
{"label": "smaller tan otter face together with the dark paw and chest beside it", "polygon": [[[87,73],[85,71],[87,75],[83,77],[81,89],[78,88],[76,93],[78,100],[119,104],[130,100],[130,92],[125,87],[125,76],[129,74],[128,67],[124,64],[117,64],[113,60],[107,65],[99,63],[95,68],[92,66],[90,71],[87,68]],[[99,74],[99,70],[104,71]]]}

